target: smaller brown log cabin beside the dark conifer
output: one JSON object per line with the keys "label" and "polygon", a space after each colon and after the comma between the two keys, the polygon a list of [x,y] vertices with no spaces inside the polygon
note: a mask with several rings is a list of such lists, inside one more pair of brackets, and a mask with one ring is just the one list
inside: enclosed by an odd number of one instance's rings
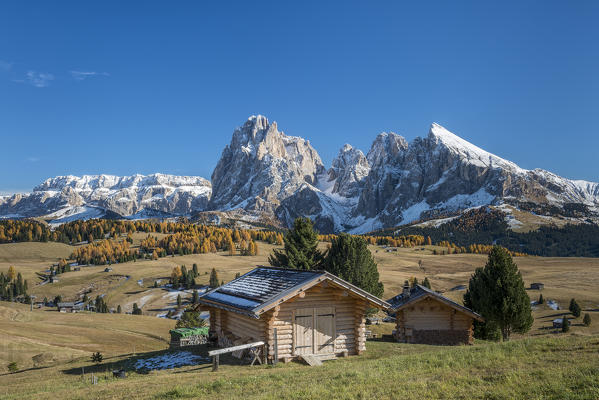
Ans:
{"label": "smaller brown log cabin beside the dark conifer", "polygon": [[424,286],[404,286],[403,293],[388,300],[395,314],[394,336],[399,342],[435,345],[472,344],[473,322],[482,321],[474,311]]}

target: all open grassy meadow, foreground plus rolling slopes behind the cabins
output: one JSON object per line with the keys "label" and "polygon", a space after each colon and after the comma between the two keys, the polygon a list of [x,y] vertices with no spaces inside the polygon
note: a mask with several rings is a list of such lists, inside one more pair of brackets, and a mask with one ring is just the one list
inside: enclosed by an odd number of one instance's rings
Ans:
{"label": "all open grassy meadow, foreground plus rolling slopes behind the cabins", "polygon": [[[139,238],[135,238],[138,240]],[[322,248],[326,244],[321,244]],[[168,330],[174,321],[155,316],[174,306],[168,289],[152,288],[156,279],[168,279],[172,268],[198,264],[198,284],[206,284],[215,268],[219,279],[228,281],[236,273],[267,264],[273,246],[259,243],[258,256],[226,253],[165,257],[105,267],[84,267],[60,275],[55,284],[30,285],[38,298],[61,294],[75,299],[83,290],[90,297],[104,294],[112,307],[130,309],[133,302],[149,316],[115,314],[61,314],[54,309],[36,309],[16,303],[0,303],[0,399],[21,398],[572,398],[599,397],[599,261],[591,258],[518,257],[527,284],[543,282],[545,299],[567,307],[575,297],[593,318],[591,327],[575,320],[570,334],[551,329],[551,321],[562,310],[538,306],[535,323],[524,338],[510,343],[477,343],[475,346],[439,347],[368,341],[362,357],[327,362],[320,368],[298,363],[272,367],[223,365],[210,372],[207,360],[200,365],[174,370],[129,374],[114,380],[109,371],[117,366],[130,369],[139,357],[162,354],[168,347]],[[427,276],[433,288],[461,301],[463,290],[486,256],[475,254],[433,255],[434,246],[387,251],[371,246],[385,284],[385,297],[401,291],[411,276]],[[70,254],[71,246],[56,243],[0,245],[0,270],[15,265],[31,282],[58,258]],[[138,282],[141,281],[141,282]],[[529,291],[537,299],[539,291]],[[390,333],[393,324],[372,327]],[[89,361],[101,351],[105,362],[95,367]],[[133,352],[137,355],[133,355]],[[200,352],[205,351],[200,350]],[[16,361],[21,369],[7,374]],[[96,386],[83,378],[95,371]]]}

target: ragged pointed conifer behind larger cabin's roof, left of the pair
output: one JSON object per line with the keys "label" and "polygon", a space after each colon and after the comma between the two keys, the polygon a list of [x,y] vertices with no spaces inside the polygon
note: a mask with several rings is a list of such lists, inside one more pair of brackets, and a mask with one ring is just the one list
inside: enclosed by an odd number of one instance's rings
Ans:
{"label": "ragged pointed conifer behind larger cabin's roof, left of the pair", "polygon": [[284,239],[284,249],[274,250],[268,262],[274,267],[295,269],[318,269],[324,255],[318,250],[318,233],[309,218],[297,218]]}

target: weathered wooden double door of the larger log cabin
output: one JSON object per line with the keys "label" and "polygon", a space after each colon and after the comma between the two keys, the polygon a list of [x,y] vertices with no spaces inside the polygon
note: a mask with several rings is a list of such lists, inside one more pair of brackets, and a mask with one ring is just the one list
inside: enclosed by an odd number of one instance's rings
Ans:
{"label": "weathered wooden double door of the larger log cabin", "polygon": [[335,352],[335,308],[298,308],[294,313],[295,355]]}

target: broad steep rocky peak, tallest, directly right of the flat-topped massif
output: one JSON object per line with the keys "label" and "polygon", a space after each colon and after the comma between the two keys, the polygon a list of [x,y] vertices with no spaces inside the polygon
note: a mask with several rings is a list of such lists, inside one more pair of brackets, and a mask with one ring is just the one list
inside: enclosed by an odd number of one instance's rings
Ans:
{"label": "broad steep rocky peak, tallest, directly right of the flat-topped massif", "polygon": [[277,123],[253,116],[233,132],[212,173],[209,209],[274,214],[281,201],[316,185],[324,165],[310,142],[287,136]]}

